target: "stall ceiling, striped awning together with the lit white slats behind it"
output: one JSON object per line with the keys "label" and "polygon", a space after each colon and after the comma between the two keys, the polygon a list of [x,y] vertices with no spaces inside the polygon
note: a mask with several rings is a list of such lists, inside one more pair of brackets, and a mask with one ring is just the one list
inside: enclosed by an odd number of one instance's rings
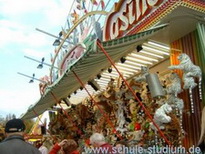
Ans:
{"label": "stall ceiling, striped awning together with the lit white slats behind it", "polygon": [[[140,66],[150,67],[169,57],[169,49],[166,46],[163,48],[154,41],[148,41],[151,36],[157,34],[159,31],[164,31],[166,27],[167,25],[162,25],[135,35],[102,42],[102,46],[112,60],[116,62],[117,68],[124,77],[129,78],[140,70]],[[143,50],[137,52],[137,45],[142,45]],[[110,63],[103,52],[97,48],[96,41],[88,45],[86,44],[86,49],[85,54],[76,63],[69,66],[66,73],[58,79],[56,84],[49,87],[45,95],[28,109],[22,116],[23,119],[34,118],[36,115],[42,114],[62,98],[67,98],[68,95],[71,96],[70,101],[72,103],[80,103],[88,96],[85,90],[79,89],[81,85],[75,78],[73,71],[84,84],[94,79],[100,85],[101,89],[106,87],[111,77],[118,77],[117,72],[113,68],[112,73],[107,71]],[[125,56],[126,61],[124,63],[119,62],[120,58]],[[99,73],[101,74],[101,78],[97,79],[96,76]],[[96,93],[90,85],[86,84],[85,86],[91,94]],[[74,91],[77,93],[73,94]]]}

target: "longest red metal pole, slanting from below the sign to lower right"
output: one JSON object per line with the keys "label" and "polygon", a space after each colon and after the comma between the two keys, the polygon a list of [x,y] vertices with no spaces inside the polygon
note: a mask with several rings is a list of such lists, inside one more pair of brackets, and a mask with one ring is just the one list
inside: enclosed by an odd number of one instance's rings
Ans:
{"label": "longest red metal pole, slanting from below the sign to lower right", "polygon": [[170,141],[166,138],[166,136],[164,135],[164,133],[160,130],[159,126],[154,122],[152,116],[150,115],[150,112],[145,108],[145,106],[143,105],[143,103],[140,101],[140,99],[135,95],[135,92],[133,91],[133,89],[129,86],[127,80],[123,77],[123,75],[119,72],[119,70],[117,69],[117,67],[115,66],[115,63],[113,62],[113,60],[111,59],[111,57],[108,55],[108,53],[105,51],[105,49],[103,48],[103,46],[101,45],[101,43],[99,42],[99,40],[97,40],[97,45],[98,47],[102,50],[102,52],[105,54],[105,56],[107,57],[108,61],[111,63],[111,65],[115,68],[115,70],[118,72],[119,76],[122,78],[122,80],[125,82],[126,86],[128,87],[128,89],[132,92],[133,96],[135,97],[135,99],[139,102],[140,106],[142,107],[142,109],[145,111],[145,114],[149,117],[149,119],[152,121],[153,125],[157,128],[159,134],[164,138],[165,142],[168,145],[171,145]]}

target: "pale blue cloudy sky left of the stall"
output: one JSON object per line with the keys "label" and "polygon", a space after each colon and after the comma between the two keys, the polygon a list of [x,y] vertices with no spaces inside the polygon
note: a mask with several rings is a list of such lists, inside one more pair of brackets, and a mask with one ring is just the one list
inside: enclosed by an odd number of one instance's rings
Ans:
{"label": "pale blue cloudy sky left of the stall", "polygon": [[37,69],[36,60],[50,62],[55,38],[36,28],[58,35],[66,23],[73,0],[0,0],[0,117],[19,117],[40,99],[39,81],[29,78],[49,75],[49,67]]}

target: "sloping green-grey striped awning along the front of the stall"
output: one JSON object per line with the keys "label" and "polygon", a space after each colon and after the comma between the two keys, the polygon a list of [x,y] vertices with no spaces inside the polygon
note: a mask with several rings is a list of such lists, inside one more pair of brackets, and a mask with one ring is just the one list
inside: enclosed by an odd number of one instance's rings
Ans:
{"label": "sloping green-grey striped awning along the front of the stall", "polygon": [[[102,42],[102,46],[112,60],[117,62],[121,57],[131,53],[137,45],[141,45],[166,26],[164,24],[134,35]],[[29,107],[27,112],[22,116],[22,119],[35,118],[37,115],[51,108],[62,98],[66,98],[79,89],[81,85],[75,78],[73,71],[86,84],[87,81],[94,79],[102,69],[107,69],[109,66],[110,63],[104,53],[97,47],[96,40],[88,42],[84,55],[72,66],[68,66],[66,72],[47,88],[45,95],[35,105]]]}

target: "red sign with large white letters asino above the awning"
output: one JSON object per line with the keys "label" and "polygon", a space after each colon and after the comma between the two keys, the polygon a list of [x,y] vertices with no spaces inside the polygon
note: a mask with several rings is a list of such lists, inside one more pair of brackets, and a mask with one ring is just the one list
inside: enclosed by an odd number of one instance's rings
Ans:
{"label": "red sign with large white letters asino above the awning", "polygon": [[120,37],[148,15],[164,0],[121,0],[108,15],[103,30],[103,40]]}

